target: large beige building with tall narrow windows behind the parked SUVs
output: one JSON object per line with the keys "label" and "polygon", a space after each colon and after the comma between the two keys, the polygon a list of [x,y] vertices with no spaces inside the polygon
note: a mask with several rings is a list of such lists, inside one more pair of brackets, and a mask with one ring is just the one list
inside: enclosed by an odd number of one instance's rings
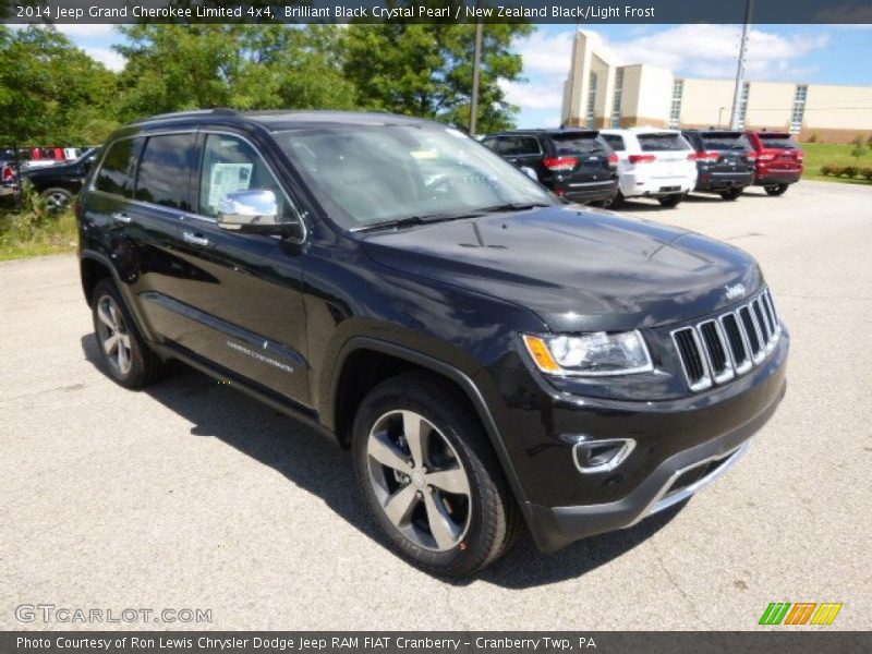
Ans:
{"label": "large beige building with tall narrow windows behind the parked SUVs", "polygon": [[[573,126],[727,128],[732,80],[676,77],[666,69],[621,65],[600,36],[579,29],[564,84],[562,123]],[[747,129],[784,130],[848,143],[872,134],[872,86],[746,82],[739,108]]]}

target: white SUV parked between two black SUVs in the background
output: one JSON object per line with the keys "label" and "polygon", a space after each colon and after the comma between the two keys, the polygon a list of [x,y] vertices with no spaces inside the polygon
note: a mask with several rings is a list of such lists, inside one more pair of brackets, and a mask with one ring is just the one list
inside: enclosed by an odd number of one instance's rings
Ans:
{"label": "white SUV parked between two black SUVs in the background", "polygon": [[613,206],[625,197],[654,197],[664,207],[674,207],[697,184],[695,154],[678,130],[630,128],[600,134],[618,155],[618,195]]}

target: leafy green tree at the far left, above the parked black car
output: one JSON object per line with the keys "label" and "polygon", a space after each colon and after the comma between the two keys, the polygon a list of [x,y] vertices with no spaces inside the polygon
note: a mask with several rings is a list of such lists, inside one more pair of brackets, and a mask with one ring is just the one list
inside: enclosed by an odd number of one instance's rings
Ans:
{"label": "leafy green tree at the far left, above the parked black car", "polygon": [[117,125],[116,81],[53,27],[0,26],[0,143],[101,141]]}

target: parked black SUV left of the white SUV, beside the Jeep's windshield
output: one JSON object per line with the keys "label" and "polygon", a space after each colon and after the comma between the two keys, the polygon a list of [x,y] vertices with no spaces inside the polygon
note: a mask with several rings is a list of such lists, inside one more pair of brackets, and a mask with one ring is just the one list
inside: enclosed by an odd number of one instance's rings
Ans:
{"label": "parked black SUV left of the white SUV, beside the Jeep's windshield", "polygon": [[571,202],[608,206],[618,193],[618,156],[595,130],[525,130],[482,143]]}

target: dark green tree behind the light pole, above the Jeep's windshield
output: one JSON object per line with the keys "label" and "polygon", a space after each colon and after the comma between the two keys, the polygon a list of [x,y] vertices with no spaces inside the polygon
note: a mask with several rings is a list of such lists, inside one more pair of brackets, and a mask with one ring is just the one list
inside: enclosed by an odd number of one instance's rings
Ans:
{"label": "dark green tree behind the light pole, above the Jeep's windshield", "polygon": [[[484,29],[480,84],[480,130],[513,125],[517,107],[501,86],[521,80],[523,61],[512,39],[530,34],[528,24],[488,24]],[[475,25],[352,24],[348,27],[344,72],[358,88],[362,108],[433,118],[467,128],[472,97]]]}

